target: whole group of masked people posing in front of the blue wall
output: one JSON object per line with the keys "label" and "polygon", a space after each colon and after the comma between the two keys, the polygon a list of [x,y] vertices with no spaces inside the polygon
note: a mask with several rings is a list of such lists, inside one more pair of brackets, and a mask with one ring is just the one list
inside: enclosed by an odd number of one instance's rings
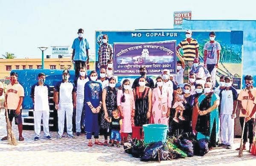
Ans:
{"label": "whole group of masked people posing in front of the blue wall", "polygon": [[[87,43],[79,30],[79,37],[74,41],[74,58],[85,55],[77,53],[77,43]],[[103,41],[104,40],[104,41]],[[218,68],[221,46],[215,41],[215,32],[210,32],[209,42],[204,46],[204,65],[198,57],[198,43],[192,38],[192,31],[186,31],[186,39],[177,46],[177,76],[171,75],[168,69],[155,81],[147,76],[147,69],[140,68],[140,77],[125,79],[117,86],[117,80],[111,72],[113,62],[108,44],[100,49],[100,72],[91,71],[87,75],[86,64],[76,62],[76,80],[70,82],[70,72],[65,69],[62,80],[55,86],[54,102],[58,110],[58,138],[64,132],[66,115],[67,135],[73,138],[72,116],[76,110],[76,136],[81,135],[84,128],[88,146],[93,146],[92,135],[96,145],[120,147],[132,133],[132,138],[143,139],[142,126],[147,123],[165,124],[172,131],[176,129],[196,135],[197,140],[209,140],[209,149],[218,146],[233,148],[234,119],[236,110],[241,110],[239,120],[243,127],[244,146],[249,132],[250,147],[253,143],[253,129],[256,114],[256,90],[253,88],[253,77],[244,77],[246,88],[237,93],[232,86],[231,76],[221,76],[217,82],[215,72]],[[80,42],[80,43],[79,43]],[[103,43],[108,42],[105,35]],[[88,44],[84,45],[89,49]],[[183,56],[179,49],[183,49]],[[88,57],[87,57],[88,58]],[[88,59],[87,59],[88,60]],[[103,63],[104,61],[104,63]],[[106,62],[106,63],[105,63]],[[186,70],[188,72],[186,76]],[[187,77],[187,79],[186,79]],[[15,117],[22,137],[21,104],[24,90],[17,82],[17,73],[11,73],[11,83],[7,86],[7,108],[9,119]],[[45,84],[45,74],[38,74],[38,82],[32,86],[31,97],[34,102],[35,140],[40,137],[41,118],[44,123],[44,137],[51,139],[49,134],[49,86]],[[187,82],[187,83],[186,83]],[[1,92],[1,91],[0,91]],[[14,102],[15,101],[15,102]],[[239,109],[237,109],[237,107]],[[178,124],[175,129],[175,124]],[[21,127],[20,127],[21,126]],[[104,142],[99,141],[99,134],[104,135]],[[110,140],[108,141],[108,135]]]}

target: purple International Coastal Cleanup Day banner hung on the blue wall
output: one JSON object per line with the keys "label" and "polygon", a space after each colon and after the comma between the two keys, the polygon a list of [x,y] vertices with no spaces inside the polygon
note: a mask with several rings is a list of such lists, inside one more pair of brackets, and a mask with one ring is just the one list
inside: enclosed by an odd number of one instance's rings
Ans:
{"label": "purple International Coastal Cleanup Day banner hung on the blue wall", "polygon": [[151,43],[114,43],[114,75],[139,75],[140,67],[148,75],[160,75],[163,69],[176,74],[176,41]]}

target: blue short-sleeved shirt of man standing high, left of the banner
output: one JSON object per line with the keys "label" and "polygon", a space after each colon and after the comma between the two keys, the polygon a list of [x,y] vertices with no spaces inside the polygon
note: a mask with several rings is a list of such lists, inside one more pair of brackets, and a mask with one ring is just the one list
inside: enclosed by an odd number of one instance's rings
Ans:
{"label": "blue short-sleeved shirt of man standing high, left of the banner", "polygon": [[85,38],[82,38],[82,40],[80,41],[79,38],[77,37],[73,41],[72,49],[75,49],[74,60],[82,60],[82,61],[87,60],[86,50],[90,48],[89,48],[89,43]]}

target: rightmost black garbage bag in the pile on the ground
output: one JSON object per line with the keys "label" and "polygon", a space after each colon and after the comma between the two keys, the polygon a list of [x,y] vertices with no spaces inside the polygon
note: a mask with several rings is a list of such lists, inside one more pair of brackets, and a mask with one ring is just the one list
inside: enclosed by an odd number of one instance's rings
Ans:
{"label": "rightmost black garbage bag in the pile on the ground", "polygon": [[204,156],[209,152],[208,140],[200,139],[194,143],[194,155]]}

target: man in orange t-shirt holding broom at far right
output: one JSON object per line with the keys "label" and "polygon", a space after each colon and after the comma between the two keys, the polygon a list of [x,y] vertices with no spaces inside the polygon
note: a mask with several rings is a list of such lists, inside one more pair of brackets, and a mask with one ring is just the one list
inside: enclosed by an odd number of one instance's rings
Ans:
{"label": "man in orange t-shirt holding broom at far right", "polygon": [[[246,88],[243,89],[238,96],[238,108],[240,111],[239,120],[241,123],[241,127],[243,128],[244,124],[244,117],[245,117],[245,125],[244,125],[244,135],[243,137],[243,150],[246,150],[246,143],[247,143],[247,132],[249,132],[249,152],[251,151],[252,144],[253,144],[253,133],[254,126],[255,126],[255,114],[256,114],[256,89],[253,88],[253,77],[250,75],[246,75],[244,77],[245,86]],[[239,150],[237,148],[236,150]]]}

